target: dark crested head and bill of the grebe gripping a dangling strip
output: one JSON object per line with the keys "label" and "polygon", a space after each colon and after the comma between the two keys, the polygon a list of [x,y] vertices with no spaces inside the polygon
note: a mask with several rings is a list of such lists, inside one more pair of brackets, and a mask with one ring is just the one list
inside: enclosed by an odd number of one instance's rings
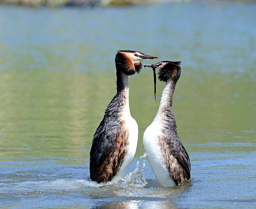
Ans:
{"label": "dark crested head and bill of the grebe gripping a dangling strip", "polygon": [[180,78],[181,62],[162,61],[152,65],[144,65],[144,67],[157,68],[158,79],[167,82],[168,79],[174,80],[176,83]]}

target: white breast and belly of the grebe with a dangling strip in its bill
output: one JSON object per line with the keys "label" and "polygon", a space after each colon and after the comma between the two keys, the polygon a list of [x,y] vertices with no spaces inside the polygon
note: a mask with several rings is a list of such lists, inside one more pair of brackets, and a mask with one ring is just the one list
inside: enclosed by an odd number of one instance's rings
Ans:
{"label": "white breast and belly of the grebe with a dangling strip in its bill", "polygon": [[160,123],[154,120],[144,131],[143,145],[147,153],[148,161],[160,184],[163,187],[173,187],[176,186],[176,183],[172,180],[166,169],[163,153],[158,143],[160,129]]}

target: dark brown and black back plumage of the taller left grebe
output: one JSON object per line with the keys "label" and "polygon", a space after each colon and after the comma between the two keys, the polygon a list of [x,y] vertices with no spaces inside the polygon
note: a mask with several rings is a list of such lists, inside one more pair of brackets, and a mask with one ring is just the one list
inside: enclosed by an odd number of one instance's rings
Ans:
{"label": "dark brown and black back plumage of the taller left grebe", "polygon": [[111,181],[126,155],[128,131],[124,121],[118,119],[123,97],[120,92],[114,96],[94,133],[90,151],[90,178],[98,183]]}

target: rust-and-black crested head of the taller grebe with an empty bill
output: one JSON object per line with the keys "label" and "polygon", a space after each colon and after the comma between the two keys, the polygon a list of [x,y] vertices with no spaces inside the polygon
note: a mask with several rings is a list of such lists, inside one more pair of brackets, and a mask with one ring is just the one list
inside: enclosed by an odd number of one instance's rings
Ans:
{"label": "rust-and-black crested head of the taller grebe with an empty bill", "polygon": [[132,76],[135,73],[139,73],[142,68],[143,59],[155,59],[158,58],[152,55],[146,55],[138,51],[131,50],[119,50],[116,54],[116,70],[122,73]]}

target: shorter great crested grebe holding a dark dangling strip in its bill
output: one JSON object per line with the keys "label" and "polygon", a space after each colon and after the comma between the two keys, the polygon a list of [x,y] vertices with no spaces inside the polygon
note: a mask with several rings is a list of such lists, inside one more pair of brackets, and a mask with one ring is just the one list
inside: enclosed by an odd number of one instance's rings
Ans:
{"label": "shorter great crested grebe holding a dark dangling strip in its bill", "polygon": [[190,179],[190,159],[178,134],[172,111],[172,97],[180,78],[180,62],[162,61],[144,67],[157,68],[158,79],[166,82],[158,112],[143,135],[148,161],[163,187],[179,185]]}

